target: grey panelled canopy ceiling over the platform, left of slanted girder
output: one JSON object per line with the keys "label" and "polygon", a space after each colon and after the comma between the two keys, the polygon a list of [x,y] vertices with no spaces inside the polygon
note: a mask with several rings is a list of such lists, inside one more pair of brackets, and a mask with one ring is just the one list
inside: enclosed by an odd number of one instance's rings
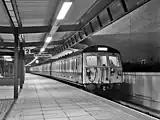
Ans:
{"label": "grey panelled canopy ceiling over the platform, left of slanted girder", "polygon": [[[64,20],[56,21],[65,1],[72,1]],[[22,34],[23,47],[38,53],[51,30],[52,41],[47,49],[52,53],[56,46],[64,43],[75,31],[88,22],[102,8],[97,6],[105,0],[1,0],[0,1],[0,47],[14,49],[14,27]],[[91,14],[93,8],[96,12]],[[103,7],[103,6],[102,6]],[[48,51],[47,51],[48,52]]]}

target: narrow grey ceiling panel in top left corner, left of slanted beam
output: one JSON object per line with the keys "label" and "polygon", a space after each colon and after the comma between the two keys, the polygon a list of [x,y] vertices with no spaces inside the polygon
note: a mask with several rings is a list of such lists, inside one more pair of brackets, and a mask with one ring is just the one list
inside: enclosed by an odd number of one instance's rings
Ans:
{"label": "narrow grey ceiling panel in top left corner, left of slanted beam", "polygon": [[0,26],[10,26],[9,17],[2,0],[0,0]]}

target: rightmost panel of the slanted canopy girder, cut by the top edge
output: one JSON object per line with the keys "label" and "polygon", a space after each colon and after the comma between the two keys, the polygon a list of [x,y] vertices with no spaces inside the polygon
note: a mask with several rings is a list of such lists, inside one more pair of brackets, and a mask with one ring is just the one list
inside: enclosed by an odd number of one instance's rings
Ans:
{"label": "rightmost panel of the slanted canopy girder, cut by the top edge", "polygon": [[133,10],[137,6],[142,5],[147,0],[124,0],[124,1],[125,1],[126,5],[127,5],[127,8],[129,10]]}

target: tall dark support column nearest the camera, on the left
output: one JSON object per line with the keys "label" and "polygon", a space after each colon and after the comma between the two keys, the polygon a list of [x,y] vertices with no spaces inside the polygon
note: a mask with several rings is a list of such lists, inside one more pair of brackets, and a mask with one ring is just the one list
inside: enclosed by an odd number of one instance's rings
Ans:
{"label": "tall dark support column nearest the camera, on the left", "polygon": [[18,98],[18,47],[19,47],[19,34],[18,28],[14,29],[14,42],[15,42],[15,52],[14,52],[14,99]]}

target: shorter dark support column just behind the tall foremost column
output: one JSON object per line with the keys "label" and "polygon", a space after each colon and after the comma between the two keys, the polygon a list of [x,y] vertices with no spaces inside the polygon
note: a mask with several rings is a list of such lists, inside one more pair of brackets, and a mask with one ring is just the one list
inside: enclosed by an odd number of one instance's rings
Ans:
{"label": "shorter dark support column just behind the tall foremost column", "polygon": [[23,46],[20,45],[20,89],[23,88],[23,84],[24,84],[24,50],[23,50]]}

